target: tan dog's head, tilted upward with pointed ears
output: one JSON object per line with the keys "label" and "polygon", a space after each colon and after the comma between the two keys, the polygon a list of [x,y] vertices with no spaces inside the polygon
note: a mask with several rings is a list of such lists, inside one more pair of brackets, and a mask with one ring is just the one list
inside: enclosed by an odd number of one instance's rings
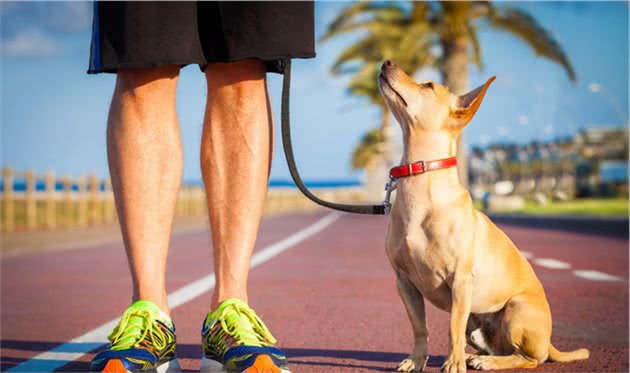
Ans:
{"label": "tan dog's head, tilted upward with pointed ears", "polygon": [[426,81],[416,83],[391,61],[385,61],[378,77],[381,94],[403,130],[448,131],[457,135],[477,112],[495,77],[462,95]]}

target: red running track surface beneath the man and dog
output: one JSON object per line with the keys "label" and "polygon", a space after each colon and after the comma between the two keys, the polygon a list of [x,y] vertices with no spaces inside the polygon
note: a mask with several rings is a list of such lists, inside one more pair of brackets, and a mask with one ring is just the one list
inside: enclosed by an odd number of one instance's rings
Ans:
{"label": "red running track surface beneath the man and dog", "polygon": [[[326,213],[263,221],[257,250],[307,227]],[[320,233],[256,267],[250,304],[289,355],[294,372],[393,371],[411,348],[411,330],[395,289],[383,242],[387,219],[342,215]],[[546,363],[538,372],[628,371],[628,241],[560,231],[502,227],[534,258],[571,269],[534,265],[551,303],[552,341],[561,350],[586,347],[591,358]],[[170,292],[212,270],[207,232],[175,236],[168,264]],[[591,269],[617,282],[576,277]],[[130,276],[121,243],[7,258],[1,262],[1,369],[7,370],[120,316]],[[199,369],[201,322],[210,293],[176,308],[178,355]],[[427,306],[427,371],[447,353],[448,314]],[[88,353],[60,368],[86,371]]]}

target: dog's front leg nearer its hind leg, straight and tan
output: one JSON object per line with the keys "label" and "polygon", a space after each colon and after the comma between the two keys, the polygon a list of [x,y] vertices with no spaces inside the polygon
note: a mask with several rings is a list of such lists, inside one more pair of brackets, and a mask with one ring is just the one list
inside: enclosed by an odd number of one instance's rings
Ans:
{"label": "dog's front leg nearer its hind leg, straight and tan", "polygon": [[451,325],[448,358],[442,372],[466,372],[466,324],[472,302],[472,275],[470,271],[456,271],[451,285]]}

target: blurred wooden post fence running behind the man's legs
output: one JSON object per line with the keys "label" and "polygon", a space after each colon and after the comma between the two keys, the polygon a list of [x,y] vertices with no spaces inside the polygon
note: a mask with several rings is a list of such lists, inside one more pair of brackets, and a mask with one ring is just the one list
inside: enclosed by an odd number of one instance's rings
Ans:
{"label": "blurred wooden post fence running behind the man's legs", "polygon": [[[0,222],[2,231],[58,230],[116,222],[111,183],[95,175],[56,177],[54,171],[37,175],[33,171],[2,170]],[[364,200],[360,187],[320,189],[318,195],[338,202]],[[201,186],[184,184],[180,188],[175,216],[207,214],[205,192]],[[264,214],[305,211],[317,205],[293,188],[274,188],[267,193]]]}

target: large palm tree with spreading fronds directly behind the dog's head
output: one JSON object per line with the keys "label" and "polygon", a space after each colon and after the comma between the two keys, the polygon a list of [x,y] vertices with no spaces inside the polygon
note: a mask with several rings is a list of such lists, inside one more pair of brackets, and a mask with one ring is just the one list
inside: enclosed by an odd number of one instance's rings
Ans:
{"label": "large palm tree with spreading fronds directly behind the dog's head", "polygon": [[[472,63],[482,68],[478,38],[482,27],[513,34],[529,45],[536,55],[562,66],[575,81],[575,72],[562,47],[531,15],[489,2],[360,2],[346,7],[337,16],[322,41],[356,30],[367,31],[339,55],[333,73],[361,71],[366,65],[387,58],[396,60],[411,74],[432,64],[439,70],[442,82],[452,92],[461,94],[469,88],[469,65]],[[353,64],[358,65],[358,69],[344,69]],[[359,78],[358,73],[355,78]],[[465,158],[463,151],[460,138],[460,159]],[[465,161],[459,162],[463,183],[467,181],[465,166]]]}

